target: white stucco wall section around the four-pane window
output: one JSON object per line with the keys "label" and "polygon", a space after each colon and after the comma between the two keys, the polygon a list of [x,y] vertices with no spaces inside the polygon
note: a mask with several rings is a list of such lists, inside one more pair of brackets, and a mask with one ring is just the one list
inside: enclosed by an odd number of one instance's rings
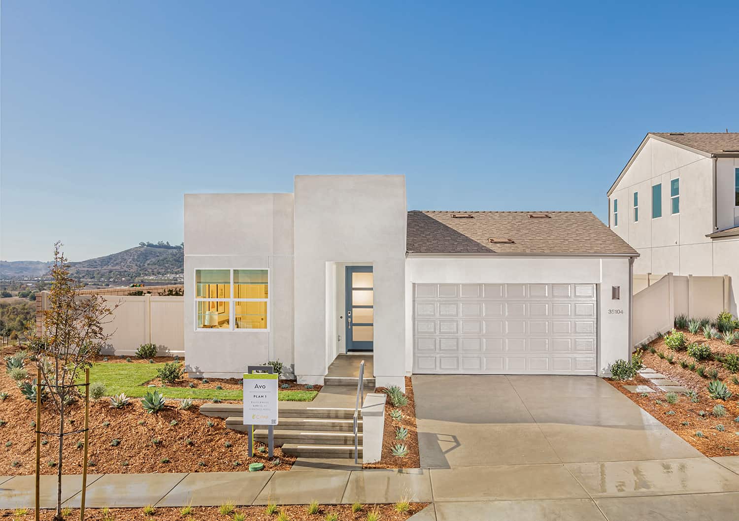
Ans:
{"label": "white stucco wall section around the four-pane window", "polygon": [[[268,269],[268,330],[195,327],[197,269]],[[186,370],[239,377],[293,358],[293,194],[185,194]]]}

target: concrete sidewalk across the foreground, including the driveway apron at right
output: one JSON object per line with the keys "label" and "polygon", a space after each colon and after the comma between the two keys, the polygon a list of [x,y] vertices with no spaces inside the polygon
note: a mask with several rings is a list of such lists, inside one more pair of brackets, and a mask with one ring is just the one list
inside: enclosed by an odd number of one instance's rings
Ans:
{"label": "concrete sidewalk across the foreground, including the driveway apron at right", "polygon": [[[638,476],[638,480],[634,480]],[[54,506],[56,477],[41,477]],[[727,520],[739,504],[739,457],[451,469],[291,470],[91,475],[90,508],[338,503],[432,503],[414,521],[525,519]],[[33,508],[33,476],[0,477],[0,508]],[[78,507],[81,476],[64,476],[65,506]],[[559,517],[558,517],[559,516]]]}

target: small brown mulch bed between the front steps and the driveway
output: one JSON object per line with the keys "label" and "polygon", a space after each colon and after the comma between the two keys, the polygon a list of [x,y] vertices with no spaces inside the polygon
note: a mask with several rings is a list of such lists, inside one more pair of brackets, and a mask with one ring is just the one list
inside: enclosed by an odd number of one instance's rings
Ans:
{"label": "small brown mulch bed between the front steps and the driveway", "polygon": [[[378,387],[375,392],[383,392],[384,387]],[[418,469],[420,467],[420,456],[418,455],[418,429],[415,421],[415,401],[413,400],[413,384],[411,378],[406,376],[406,398],[408,404],[403,407],[392,406],[389,400],[385,402],[385,428],[382,439],[382,458],[376,463],[364,463],[364,469]],[[393,409],[400,409],[403,416],[400,420],[390,418]],[[405,427],[408,436],[405,440],[395,439],[395,428]],[[396,443],[403,443],[408,447],[406,457],[393,456],[390,452]],[[383,518],[384,519],[384,518]]]}

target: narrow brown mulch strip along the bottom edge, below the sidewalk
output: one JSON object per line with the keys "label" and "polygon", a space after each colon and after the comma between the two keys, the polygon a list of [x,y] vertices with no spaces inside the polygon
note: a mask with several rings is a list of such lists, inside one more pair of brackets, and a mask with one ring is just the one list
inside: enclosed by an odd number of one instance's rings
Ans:
{"label": "narrow brown mulch strip along the bottom edge, below the sidewalk", "polygon": [[[321,505],[319,514],[308,514],[305,505],[289,505],[282,506],[279,508],[280,511],[285,512],[290,521],[313,521],[313,520],[324,520],[327,514],[338,514],[338,519],[341,521],[360,521],[367,520],[367,512],[377,511],[380,514],[379,519],[381,521],[405,521],[413,514],[417,514],[428,503],[410,503],[410,508],[407,512],[399,514],[395,511],[394,505],[362,505],[361,511],[352,512],[352,505]],[[147,516],[143,513],[143,508],[111,508],[108,512],[107,519],[115,521],[124,520],[142,520],[152,519],[159,521],[174,521],[174,520],[192,520],[192,521],[210,521],[210,520],[231,520],[233,514],[225,516],[219,512],[219,507],[207,507],[207,506],[194,506],[192,507],[191,514],[182,514],[182,508],[156,508],[154,513]],[[33,508],[29,508],[26,514],[18,514],[18,511],[13,510],[0,510],[0,517],[12,518],[13,520],[33,520],[34,511]],[[274,521],[276,514],[268,515],[265,511],[264,506],[241,506],[236,507],[234,512],[245,514],[245,519],[248,521]],[[54,517],[55,511],[42,510],[41,519],[51,520]],[[68,520],[78,520],[80,518],[80,511],[78,508],[70,511]],[[103,511],[99,508],[85,508],[85,519],[90,521],[102,521],[106,518],[103,515]]]}

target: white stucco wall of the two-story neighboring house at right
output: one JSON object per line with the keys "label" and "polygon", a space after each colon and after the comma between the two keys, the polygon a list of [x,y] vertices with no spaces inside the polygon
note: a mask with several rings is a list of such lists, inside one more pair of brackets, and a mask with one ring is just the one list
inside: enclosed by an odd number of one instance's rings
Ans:
{"label": "white stucco wall of the two-story neighboring house at right", "polygon": [[[634,273],[732,276],[733,293],[739,293],[737,257],[724,257],[726,245],[715,245],[706,237],[713,228],[712,157],[650,138],[624,172],[610,196],[610,228],[627,241],[640,256]],[[717,160],[717,222],[719,229],[731,228],[739,208],[733,206],[734,165],[739,160]],[[680,179],[680,213],[672,214],[670,180]],[[662,217],[652,219],[652,186],[662,185]],[[634,222],[633,194],[638,191],[639,219]],[[619,201],[619,225],[613,225],[613,201]],[[738,217],[739,219],[739,217]],[[737,299],[732,300],[736,310]],[[736,314],[734,311],[733,313]]]}

